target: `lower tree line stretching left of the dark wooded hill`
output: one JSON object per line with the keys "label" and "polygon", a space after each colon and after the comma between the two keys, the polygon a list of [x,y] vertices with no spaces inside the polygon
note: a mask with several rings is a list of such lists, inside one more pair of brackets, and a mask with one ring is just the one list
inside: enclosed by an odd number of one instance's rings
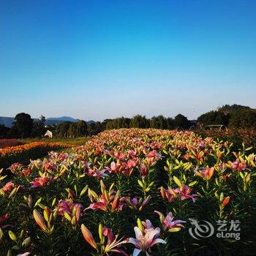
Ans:
{"label": "lower tree line stretching left of the dark wooded hill", "polygon": [[12,127],[4,127],[0,124],[0,138],[38,138],[42,137],[50,129],[53,137],[78,138],[97,135],[105,129],[120,128],[156,128],[156,129],[189,129],[192,123],[187,117],[178,114],[175,118],[165,118],[164,116],[134,116],[133,118],[105,119],[102,122],[86,121],[78,122],[64,121],[54,127],[45,127],[45,116],[39,119],[32,119],[28,113],[18,113]]}

